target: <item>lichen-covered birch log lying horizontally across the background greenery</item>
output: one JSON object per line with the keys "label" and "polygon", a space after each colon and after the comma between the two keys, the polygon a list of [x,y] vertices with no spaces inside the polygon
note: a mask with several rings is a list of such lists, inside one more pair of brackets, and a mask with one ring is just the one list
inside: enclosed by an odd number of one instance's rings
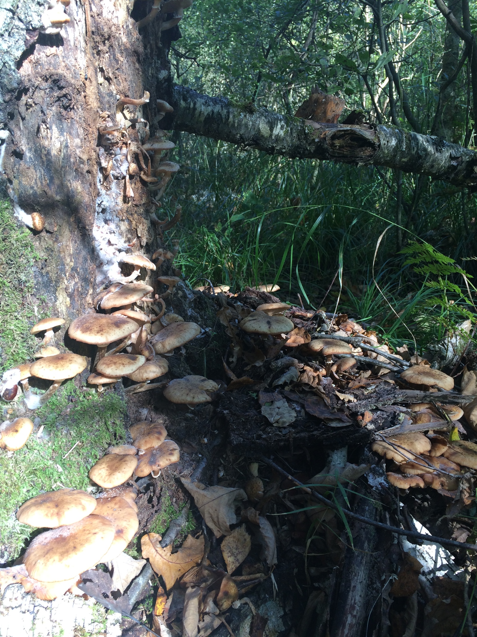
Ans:
{"label": "lichen-covered birch log lying horizontally across the background greenery", "polygon": [[170,127],[269,154],[387,166],[477,187],[477,154],[437,137],[385,125],[321,124],[176,85]]}

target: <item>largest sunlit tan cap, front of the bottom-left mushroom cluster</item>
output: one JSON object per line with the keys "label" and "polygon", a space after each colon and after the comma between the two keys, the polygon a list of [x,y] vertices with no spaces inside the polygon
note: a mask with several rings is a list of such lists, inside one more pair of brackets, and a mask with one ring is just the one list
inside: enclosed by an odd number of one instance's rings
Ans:
{"label": "largest sunlit tan cap, front of the bottom-left mushroom cluster", "polygon": [[102,515],[88,515],[36,536],[25,552],[25,568],[40,582],[68,580],[98,564],[113,540],[112,522]]}

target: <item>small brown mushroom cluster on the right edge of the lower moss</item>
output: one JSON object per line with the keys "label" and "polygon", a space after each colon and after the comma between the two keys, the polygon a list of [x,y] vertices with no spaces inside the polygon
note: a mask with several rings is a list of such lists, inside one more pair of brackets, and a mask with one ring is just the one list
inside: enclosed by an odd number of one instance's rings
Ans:
{"label": "small brown mushroom cluster on the right edge of the lower moss", "polygon": [[165,427],[158,422],[137,422],[130,427],[132,445],[109,447],[90,469],[90,479],[104,489],[119,487],[132,476],[158,478],[161,469],[179,462],[179,447],[167,439]]}

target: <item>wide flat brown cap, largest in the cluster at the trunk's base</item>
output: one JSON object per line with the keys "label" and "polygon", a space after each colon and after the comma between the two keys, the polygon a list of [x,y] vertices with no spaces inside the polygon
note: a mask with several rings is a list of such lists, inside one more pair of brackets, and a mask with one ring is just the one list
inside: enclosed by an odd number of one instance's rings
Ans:
{"label": "wide flat brown cap, largest in the cluster at the trunk's base", "polygon": [[122,315],[89,313],[75,318],[69,326],[71,338],[105,347],[137,331],[137,322]]}

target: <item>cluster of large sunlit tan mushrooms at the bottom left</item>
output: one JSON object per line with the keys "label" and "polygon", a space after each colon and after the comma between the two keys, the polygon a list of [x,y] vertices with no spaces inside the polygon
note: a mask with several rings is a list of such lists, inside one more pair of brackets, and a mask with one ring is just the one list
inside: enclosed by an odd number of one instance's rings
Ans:
{"label": "cluster of large sunlit tan mushrooms at the bottom left", "polygon": [[55,599],[76,589],[81,573],[113,561],[139,527],[135,487],[106,490],[97,498],[78,489],[32,497],[17,512],[22,524],[48,528],[30,543],[19,578],[27,592]]}

